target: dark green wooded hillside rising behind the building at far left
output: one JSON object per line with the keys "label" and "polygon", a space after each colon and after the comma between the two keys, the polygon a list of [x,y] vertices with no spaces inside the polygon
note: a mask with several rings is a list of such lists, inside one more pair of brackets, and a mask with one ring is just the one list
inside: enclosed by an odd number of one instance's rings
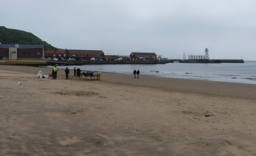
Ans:
{"label": "dark green wooded hillside rising behind the building at far left", "polygon": [[34,36],[30,32],[8,29],[4,26],[0,26],[0,42],[1,44],[44,45],[45,50],[55,49],[55,47],[46,41],[42,41],[42,39]]}

